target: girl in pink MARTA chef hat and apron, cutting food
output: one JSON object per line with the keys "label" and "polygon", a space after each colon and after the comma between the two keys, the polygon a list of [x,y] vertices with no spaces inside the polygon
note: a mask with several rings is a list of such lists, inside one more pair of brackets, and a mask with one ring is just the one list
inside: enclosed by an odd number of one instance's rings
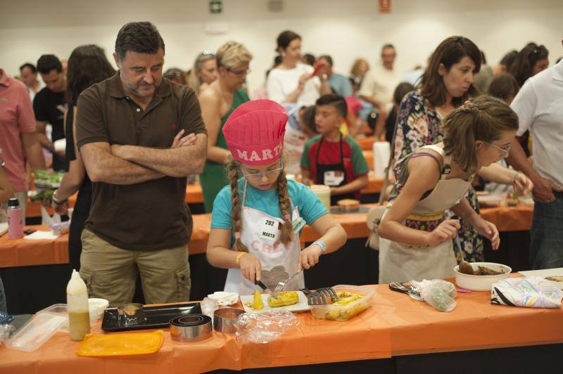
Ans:
{"label": "girl in pink MARTA chef hat and apron, cutting food", "polygon": [[[213,266],[229,269],[227,292],[251,294],[258,290],[255,280],[273,289],[346,242],[346,231],[312,191],[286,179],[281,157],[286,122],[281,105],[255,100],[236,108],[222,130],[232,153],[230,186],[213,204],[207,257]],[[301,250],[305,223],[320,238]],[[301,272],[285,290],[304,286]]]}

